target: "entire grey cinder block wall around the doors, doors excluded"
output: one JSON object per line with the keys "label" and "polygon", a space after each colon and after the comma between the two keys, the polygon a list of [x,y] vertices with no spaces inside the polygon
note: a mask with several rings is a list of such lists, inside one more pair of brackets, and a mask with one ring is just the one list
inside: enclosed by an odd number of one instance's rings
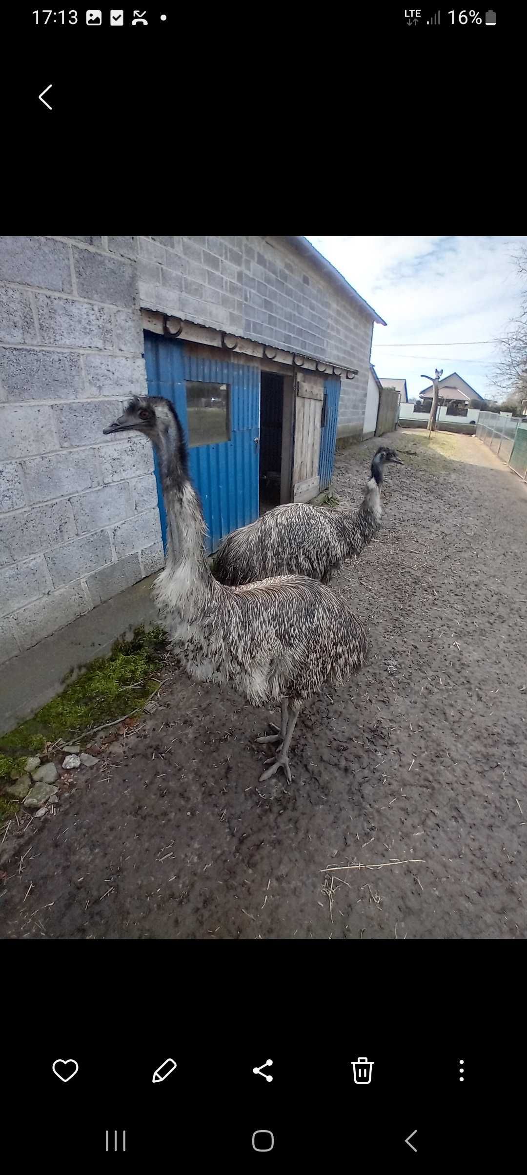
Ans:
{"label": "entire grey cinder block wall around the doors, doors excluded", "polygon": [[281,237],[0,237],[0,662],[163,562],[153,454],[102,429],[147,380],[140,307],[343,368],[372,320]]}

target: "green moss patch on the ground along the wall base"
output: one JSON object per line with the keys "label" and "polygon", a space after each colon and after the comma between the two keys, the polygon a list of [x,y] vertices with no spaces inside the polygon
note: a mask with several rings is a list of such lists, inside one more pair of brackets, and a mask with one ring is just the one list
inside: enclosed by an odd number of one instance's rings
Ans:
{"label": "green moss patch on the ground along the wall base", "polygon": [[82,731],[141,706],[162,677],[165,650],[167,636],[160,626],[140,627],[131,640],[117,640],[109,657],[97,657],[34,718],[1,736],[0,777],[18,767],[14,756],[42,751],[59,738],[72,741]]}

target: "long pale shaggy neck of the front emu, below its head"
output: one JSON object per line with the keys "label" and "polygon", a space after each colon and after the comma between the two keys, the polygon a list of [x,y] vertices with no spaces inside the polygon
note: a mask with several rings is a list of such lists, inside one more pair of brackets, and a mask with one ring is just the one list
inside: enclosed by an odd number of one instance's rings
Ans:
{"label": "long pale shaggy neck of the front emu, below its head", "polygon": [[167,511],[167,568],[185,568],[189,579],[211,578],[205,556],[205,523],[197,494],[180,461],[176,425],[156,438]]}

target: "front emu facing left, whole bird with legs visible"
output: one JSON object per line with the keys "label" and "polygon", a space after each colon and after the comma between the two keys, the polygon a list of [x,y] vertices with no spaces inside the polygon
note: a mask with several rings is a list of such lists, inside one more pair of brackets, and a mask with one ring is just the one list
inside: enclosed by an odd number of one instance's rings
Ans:
{"label": "front emu facing left, whole bird with legs visible", "polygon": [[154,596],[190,677],[235,686],[254,706],[281,703],[272,766],[291,779],[288,751],[302,703],[342,685],[366,657],[366,632],[346,600],[315,579],[286,576],[225,588],[211,575],[205,524],[188,472],[183,431],[161,396],[135,396],[108,432],[143,432],[156,448],[167,509],[167,563]]}

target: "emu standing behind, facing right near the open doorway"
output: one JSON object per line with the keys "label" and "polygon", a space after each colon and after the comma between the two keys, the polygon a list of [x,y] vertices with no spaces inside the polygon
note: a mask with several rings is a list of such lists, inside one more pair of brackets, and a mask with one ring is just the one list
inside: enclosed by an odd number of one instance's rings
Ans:
{"label": "emu standing behind, facing right near the open doorway", "polygon": [[371,478],[354,512],[292,502],[276,506],[222,543],[214,575],[232,586],[266,576],[304,575],[323,583],[344,559],[371,543],[380,526],[380,485],[386,462],[401,465],[394,449],[381,445],[371,463]]}

